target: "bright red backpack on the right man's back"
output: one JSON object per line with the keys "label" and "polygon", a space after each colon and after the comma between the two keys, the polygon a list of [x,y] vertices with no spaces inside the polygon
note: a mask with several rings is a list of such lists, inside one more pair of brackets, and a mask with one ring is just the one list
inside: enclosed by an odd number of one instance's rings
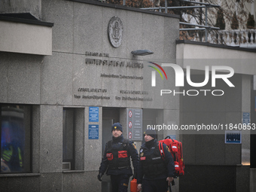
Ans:
{"label": "bright red backpack on the right man's back", "polygon": [[184,161],[181,142],[178,142],[175,139],[171,139],[169,136],[167,136],[166,139],[160,140],[158,142],[160,143],[159,149],[162,158],[165,157],[163,151],[163,143],[169,147],[174,160],[175,176],[178,177],[184,175]]}

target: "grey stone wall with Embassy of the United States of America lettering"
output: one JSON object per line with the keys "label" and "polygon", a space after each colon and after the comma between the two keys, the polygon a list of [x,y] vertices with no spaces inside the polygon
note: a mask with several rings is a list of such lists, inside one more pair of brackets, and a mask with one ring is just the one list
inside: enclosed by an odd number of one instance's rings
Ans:
{"label": "grey stone wall with Embassy of the United States of America lettering", "polygon": [[[23,174],[2,172],[1,191],[99,191],[96,175],[105,145],[102,108],[120,108],[124,135],[126,108],[161,110],[161,121],[171,116],[178,122],[178,98],[166,103],[148,88],[148,61],[175,59],[178,17],[94,1],[58,0],[41,1],[38,15],[44,22],[53,23],[52,55],[11,50],[0,53],[1,105],[29,105],[32,110],[31,169]],[[113,47],[109,41],[108,24],[113,17],[123,24],[119,47]],[[154,54],[131,54],[140,49],[152,50]],[[157,82],[166,86],[161,79]],[[92,106],[99,107],[96,123],[89,122]],[[63,111],[69,109],[75,113],[75,166],[64,171]],[[99,126],[99,139],[89,139],[89,124]]]}

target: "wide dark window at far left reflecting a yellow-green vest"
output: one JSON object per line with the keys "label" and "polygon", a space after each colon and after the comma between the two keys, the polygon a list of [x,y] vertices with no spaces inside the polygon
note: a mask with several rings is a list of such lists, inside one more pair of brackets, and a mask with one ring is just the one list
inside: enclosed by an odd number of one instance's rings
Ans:
{"label": "wide dark window at far left reflecting a yellow-green vest", "polygon": [[31,171],[31,112],[29,105],[0,103],[0,173]]}

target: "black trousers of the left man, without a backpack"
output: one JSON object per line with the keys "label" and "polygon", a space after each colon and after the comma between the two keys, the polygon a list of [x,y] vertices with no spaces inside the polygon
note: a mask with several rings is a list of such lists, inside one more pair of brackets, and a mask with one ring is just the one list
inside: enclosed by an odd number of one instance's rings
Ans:
{"label": "black trousers of the left man, without a backpack", "polygon": [[111,175],[112,192],[127,192],[129,175]]}

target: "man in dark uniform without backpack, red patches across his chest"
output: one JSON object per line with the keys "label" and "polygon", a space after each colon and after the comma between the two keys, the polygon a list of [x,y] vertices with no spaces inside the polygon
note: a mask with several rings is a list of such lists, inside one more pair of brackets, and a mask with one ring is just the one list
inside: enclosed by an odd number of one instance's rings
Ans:
{"label": "man in dark uniform without backpack, red patches across his chest", "polygon": [[139,166],[139,155],[133,142],[123,138],[123,127],[120,123],[111,126],[112,140],[105,145],[102,163],[99,167],[99,181],[107,170],[111,175],[111,187],[113,192],[126,192],[130,176],[133,170],[130,165],[130,157],[133,160],[134,178],[137,175]]}

